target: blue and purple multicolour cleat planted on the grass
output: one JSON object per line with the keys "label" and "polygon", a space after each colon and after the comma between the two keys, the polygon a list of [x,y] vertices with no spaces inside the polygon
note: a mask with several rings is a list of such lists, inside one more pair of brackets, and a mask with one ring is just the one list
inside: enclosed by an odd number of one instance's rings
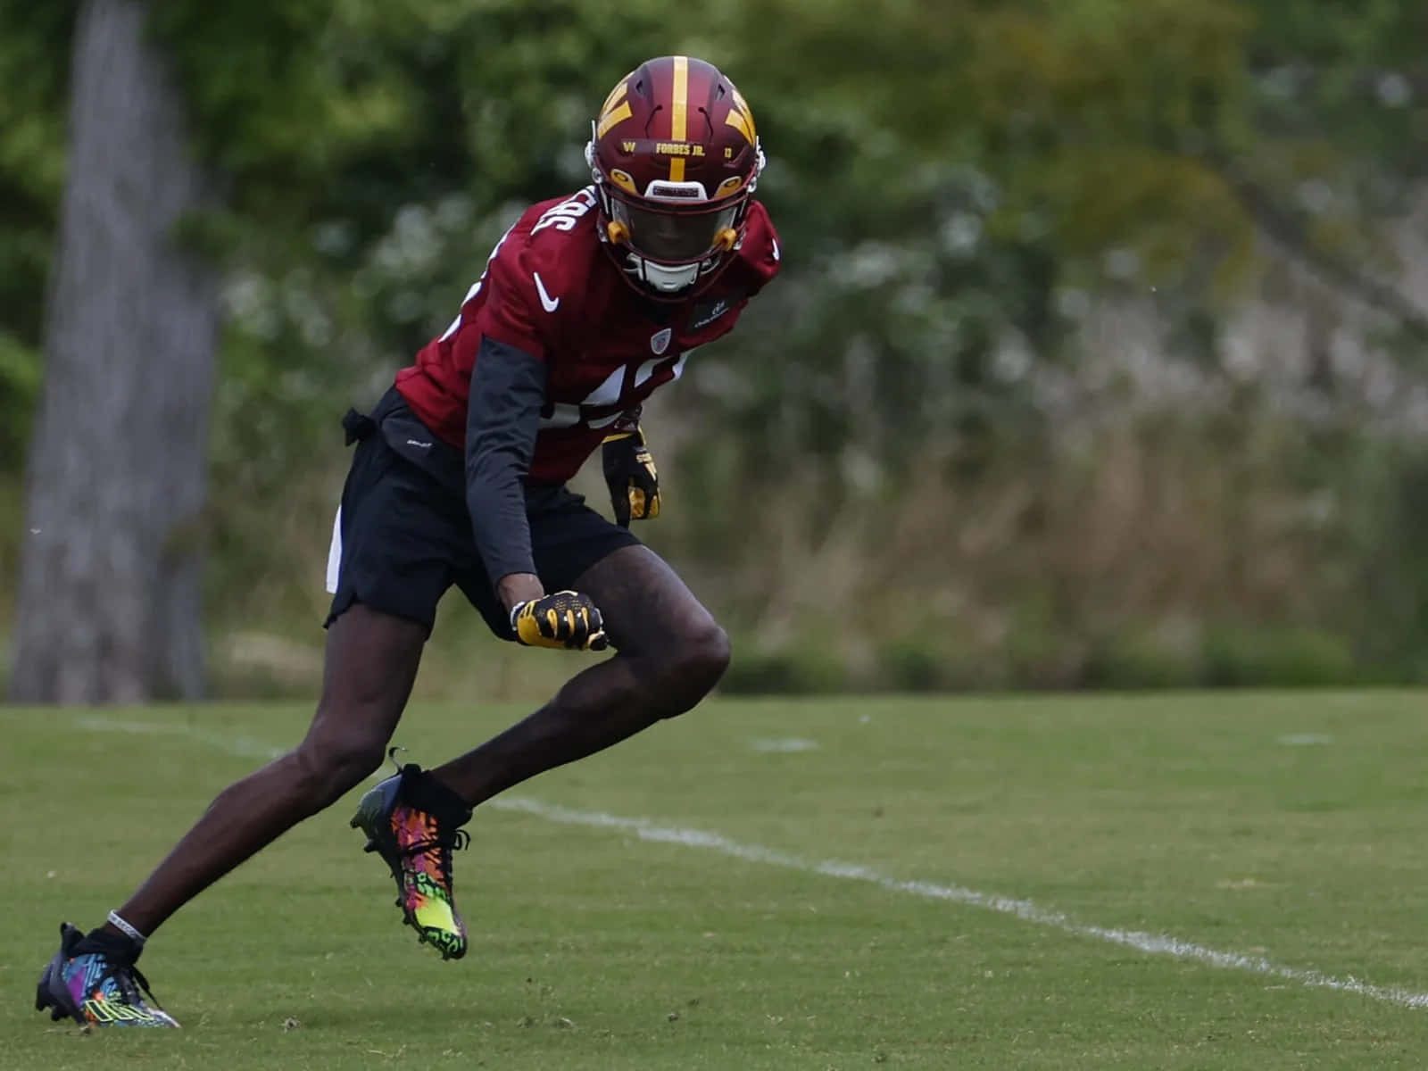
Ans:
{"label": "blue and purple multicolour cleat planted on the grass", "polygon": [[56,1022],[66,1015],[81,1027],[177,1027],[167,1011],[146,1004],[140,988],[154,1000],[149,980],[134,967],[137,952],[116,941],[86,938],[77,927],[60,924],[60,951],[54,954],[34,994],[34,1010],[50,1010]]}

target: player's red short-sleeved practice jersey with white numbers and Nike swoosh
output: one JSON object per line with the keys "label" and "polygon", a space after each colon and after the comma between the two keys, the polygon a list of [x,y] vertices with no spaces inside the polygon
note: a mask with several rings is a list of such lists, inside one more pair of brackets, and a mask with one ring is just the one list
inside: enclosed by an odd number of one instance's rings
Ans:
{"label": "player's red short-sleeved practice jersey with white numbers and Nike swoosh", "polygon": [[595,204],[594,187],[585,187],[528,208],[496,246],[451,327],[397,373],[411,411],[461,450],[481,338],[543,361],[545,406],[530,483],[571,478],[623,413],[677,380],[690,353],[727,334],[778,273],[778,236],[764,207],[750,201],[733,263],[684,301],[651,301],[601,247]]}

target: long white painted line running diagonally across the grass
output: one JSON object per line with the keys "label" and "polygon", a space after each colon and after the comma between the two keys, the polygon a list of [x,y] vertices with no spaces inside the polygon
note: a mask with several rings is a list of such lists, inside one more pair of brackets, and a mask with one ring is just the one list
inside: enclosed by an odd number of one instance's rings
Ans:
{"label": "long white painted line running diagonally across the grass", "polygon": [[[281,748],[260,744],[254,740],[224,737],[217,733],[207,733],[188,725],[116,721],[101,717],[79,718],[79,725],[83,728],[111,733],[186,735],[201,744],[218,748],[220,751],[227,751],[231,755],[247,758],[271,758],[283,753]],[[704,848],[705,851],[715,851],[720,855],[728,855],[747,863],[763,863],[771,867],[803,871],[805,874],[820,874],[823,877],[844,878],[847,881],[863,881],[865,884],[884,888],[888,892],[901,892],[905,895],[921,897],[924,900],[942,900],[952,904],[962,904],[965,907],[982,908],[985,911],[997,911],[1004,915],[1015,915],[1024,922],[1034,922],[1035,925],[1060,930],[1061,932],[1071,934],[1074,937],[1090,937],[1095,941],[1124,945],[1148,955],[1170,955],[1175,960],[1191,960],[1194,962],[1205,964],[1207,967],[1250,971],[1251,974],[1262,974],[1271,978],[1279,978],[1282,981],[1305,985],[1308,988],[1354,992],[1371,1000],[1399,1004],[1405,1008],[1428,1008],[1428,992],[1414,992],[1397,985],[1369,985],[1368,982],[1354,977],[1338,978],[1321,971],[1284,967],[1264,958],[1262,955],[1225,952],[1217,948],[1194,944],[1191,941],[1182,941],[1178,937],[1171,937],[1170,934],[1152,934],[1144,930],[1117,930],[1112,927],[1090,925],[1087,922],[1078,922],[1061,911],[1041,907],[1030,900],[998,897],[991,892],[978,892],[974,888],[964,888],[961,885],[938,885],[931,881],[902,881],[857,863],[807,860],[800,855],[790,855],[788,853],[783,853],[775,848],[765,848],[758,844],[741,844],[740,841],[730,840],[723,834],[708,833],[705,830],[661,825],[650,818],[627,818],[618,814],[605,814],[603,811],[575,811],[568,807],[557,807],[554,804],[545,804],[540,800],[531,800],[527,797],[497,797],[483,804],[483,807],[530,814],[537,818],[544,818],[545,821],[561,823],[565,825],[615,830],[618,833],[631,834],[643,841],[680,844],[687,848]]]}

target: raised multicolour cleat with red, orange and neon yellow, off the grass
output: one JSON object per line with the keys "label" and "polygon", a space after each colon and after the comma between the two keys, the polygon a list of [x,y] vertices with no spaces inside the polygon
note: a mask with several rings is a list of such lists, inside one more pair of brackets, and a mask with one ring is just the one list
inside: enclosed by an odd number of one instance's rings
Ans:
{"label": "raised multicolour cleat with red, orange and neon yellow, off the grass", "polygon": [[408,763],[363,795],[353,828],[367,834],[397,881],[403,921],[443,960],[466,955],[466,922],[451,895],[451,851],[470,843],[458,828],[471,808],[441,783]]}

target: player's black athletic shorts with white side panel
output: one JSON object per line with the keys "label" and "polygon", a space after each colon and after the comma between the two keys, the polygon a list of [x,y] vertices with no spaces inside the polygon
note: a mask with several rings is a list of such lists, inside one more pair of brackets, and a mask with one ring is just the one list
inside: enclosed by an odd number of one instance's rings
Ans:
{"label": "player's black athletic shorts with white side panel", "polygon": [[[327,624],[361,603],[430,630],[456,584],[496,635],[514,640],[471,537],[461,453],[427,431],[394,390],[370,416],[348,413],[343,427],[357,451],[333,523]],[[547,591],[574,587],[611,551],[638,543],[564,486],[528,486],[526,514]]]}

